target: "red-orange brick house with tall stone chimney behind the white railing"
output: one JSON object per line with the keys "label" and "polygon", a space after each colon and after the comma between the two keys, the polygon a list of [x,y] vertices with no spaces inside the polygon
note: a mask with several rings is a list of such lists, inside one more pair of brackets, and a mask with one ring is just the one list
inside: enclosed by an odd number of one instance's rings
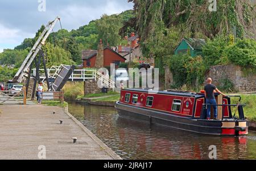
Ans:
{"label": "red-orange brick house with tall stone chimney behind the white railing", "polygon": [[120,63],[125,63],[126,58],[115,52],[113,49],[106,47],[100,41],[98,50],[82,50],[82,66],[89,68],[109,67],[115,63],[116,67]]}

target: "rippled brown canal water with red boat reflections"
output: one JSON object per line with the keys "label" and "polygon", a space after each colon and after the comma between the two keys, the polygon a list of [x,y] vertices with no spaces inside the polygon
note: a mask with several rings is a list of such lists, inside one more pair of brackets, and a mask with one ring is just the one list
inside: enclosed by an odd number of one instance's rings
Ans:
{"label": "rippled brown canal water with red boat reflections", "polygon": [[69,113],[122,159],[256,159],[256,132],[248,136],[203,136],[119,118],[115,108],[70,104]]}

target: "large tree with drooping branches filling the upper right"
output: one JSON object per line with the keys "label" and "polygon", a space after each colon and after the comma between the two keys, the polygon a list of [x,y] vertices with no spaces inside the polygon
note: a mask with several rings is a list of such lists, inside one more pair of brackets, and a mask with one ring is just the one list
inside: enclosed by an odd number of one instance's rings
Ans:
{"label": "large tree with drooping branches filling the upper right", "polygon": [[[210,12],[208,1],[203,0],[129,2],[134,2],[137,29],[142,42],[154,41],[158,32],[170,27],[180,28],[180,36],[197,37],[197,33],[200,33],[210,39],[222,33],[235,33],[240,38],[252,36],[250,29],[256,27],[253,24],[255,8],[249,0],[220,0],[217,2],[217,12]],[[142,50],[145,52],[151,48],[143,46]]]}

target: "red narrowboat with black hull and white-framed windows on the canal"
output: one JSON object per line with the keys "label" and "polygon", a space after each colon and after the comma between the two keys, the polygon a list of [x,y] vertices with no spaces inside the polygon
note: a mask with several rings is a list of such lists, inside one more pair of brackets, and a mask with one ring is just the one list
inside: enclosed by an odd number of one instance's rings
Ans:
{"label": "red narrowboat with black hull and white-framed windows on the canal", "polygon": [[[214,94],[218,106],[218,119],[206,119],[207,108],[204,93],[182,91],[159,91],[147,89],[122,89],[115,108],[119,117],[135,119],[173,129],[208,135],[247,135],[248,121],[243,114],[245,104],[230,104],[230,98]],[[241,100],[241,97],[240,97]],[[232,106],[238,108],[239,116],[232,114]],[[213,118],[213,110],[211,112]]]}

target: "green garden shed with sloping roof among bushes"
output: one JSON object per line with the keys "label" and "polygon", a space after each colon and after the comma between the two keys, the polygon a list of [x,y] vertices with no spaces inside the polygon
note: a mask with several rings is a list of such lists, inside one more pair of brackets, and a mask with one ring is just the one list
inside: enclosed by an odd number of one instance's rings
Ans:
{"label": "green garden shed with sloping roof among bushes", "polygon": [[177,48],[174,50],[175,54],[188,53],[190,50],[191,57],[202,55],[203,46],[205,45],[204,39],[183,38]]}

